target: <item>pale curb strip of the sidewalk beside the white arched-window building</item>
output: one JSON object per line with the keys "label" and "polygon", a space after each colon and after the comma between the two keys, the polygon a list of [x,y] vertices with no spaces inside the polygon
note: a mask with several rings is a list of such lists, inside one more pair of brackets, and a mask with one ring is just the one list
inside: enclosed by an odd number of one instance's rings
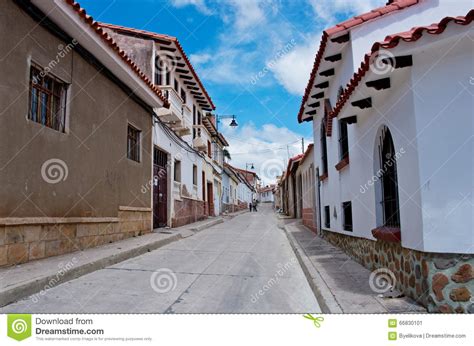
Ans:
{"label": "pale curb strip of the sidewalk beside the white arched-window building", "polygon": [[336,301],[336,298],[331,293],[329,287],[326,285],[326,282],[321,277],[317,269],[313,266],[304,249],[299,245],[293,234],[291,234],[291,232],[288,230],[288,227],[291,227],[292,225],[293,224],[283,225],[282,228],[285,231],[286,237],[290,242],[291,248],[298,259],[301,268],[303,269],[303,273],[308,280],[308,284],[319,303],[321,311],[325,314],[343,313],[344,311]]}

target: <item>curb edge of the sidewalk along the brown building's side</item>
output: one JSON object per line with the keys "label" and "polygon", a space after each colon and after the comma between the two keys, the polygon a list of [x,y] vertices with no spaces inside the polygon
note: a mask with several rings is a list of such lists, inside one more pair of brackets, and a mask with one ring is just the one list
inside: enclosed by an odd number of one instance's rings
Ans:
{"label": "curb edge of the sidewalk along the brown building's side", "polygon": [[[16,302],[22,298],[28,297],[35,293],[45,290],[46,287],[52,288],[67,281],[76,279],[80,276],[89,274],[91,272],[103,269],[113,264],[125,261],[127,259],[142,255],[151,250],[158,249],[162,246],[168,245],[183,238],[181,234],[174,234],[168,238],[160,239],[149,244],[144,244],[133,249],[124,250],[113,255],[97,259],[92,262],[78,265],[64,272],[64,275],[58,274],[47,275],[42,278],[34,279],[29,282],[22,282],[21,284],[9,287],[3,292],[0,292],[0,307]],[[53,283],[53,284],[51,284]]]}

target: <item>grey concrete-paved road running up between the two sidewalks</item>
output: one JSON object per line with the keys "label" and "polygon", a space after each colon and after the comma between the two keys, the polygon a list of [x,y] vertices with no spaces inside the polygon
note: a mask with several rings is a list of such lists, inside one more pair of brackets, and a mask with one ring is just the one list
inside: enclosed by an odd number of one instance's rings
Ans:
{"label": "grey concrete-paved road running up between the two sidewalks", "polygon": [[270,206],[0,309],[33,313],[320,312]]}

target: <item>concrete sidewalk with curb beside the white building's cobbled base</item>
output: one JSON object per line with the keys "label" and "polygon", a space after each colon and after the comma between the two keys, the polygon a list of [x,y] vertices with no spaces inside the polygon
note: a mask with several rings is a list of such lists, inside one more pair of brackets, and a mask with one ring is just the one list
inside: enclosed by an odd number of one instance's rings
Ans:
{"label": "concrete sidewalk with curb beside the white building's cobbled base", "polygon": [[323,313],[426,312],[408,297],[379,297],[370,288],[370,270],[315,235],[301,221],[283,227]]}

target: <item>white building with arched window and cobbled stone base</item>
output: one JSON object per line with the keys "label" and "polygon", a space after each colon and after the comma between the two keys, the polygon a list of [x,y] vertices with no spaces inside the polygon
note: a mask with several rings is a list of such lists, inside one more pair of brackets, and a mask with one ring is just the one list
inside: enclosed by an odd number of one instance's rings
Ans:
{"label": "white building with arched window and cobbled stone base", "polygon": [[433,311],[467,310],[452,278],[474,263],[471,7],[389,1],[325,30],[298,116],[322,236]]}

